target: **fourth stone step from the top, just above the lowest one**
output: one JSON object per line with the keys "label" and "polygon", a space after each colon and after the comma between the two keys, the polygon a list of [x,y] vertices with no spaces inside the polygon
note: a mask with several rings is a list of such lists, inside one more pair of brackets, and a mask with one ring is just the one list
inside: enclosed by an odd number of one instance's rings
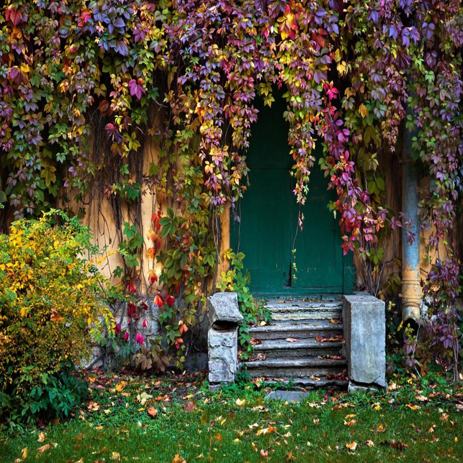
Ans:
{"label": "fourth stone step from the top, just above the lowest one", "polygon": [[311,378],[324,377],[340,373],[347,367],[342,360],[322,359],[317,357],[304,358],[273,358],[243,362],[248,373],[253,378]]}

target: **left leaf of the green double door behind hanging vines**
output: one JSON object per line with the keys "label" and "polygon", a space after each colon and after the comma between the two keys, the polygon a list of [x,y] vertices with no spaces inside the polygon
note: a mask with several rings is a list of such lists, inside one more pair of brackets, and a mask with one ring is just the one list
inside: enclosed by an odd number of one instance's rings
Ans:
{"label": "left leaf of the green double door behind hanging vines", "polygon": [[[249,189],[240,202],[241,223],[232,221],[232,247],[244,252],[256,291],[271,292],[288,285],[291,265],[291,158],[284,102],[259,107],[246,161]],[[275,119],[276,115],[276,119]]]}

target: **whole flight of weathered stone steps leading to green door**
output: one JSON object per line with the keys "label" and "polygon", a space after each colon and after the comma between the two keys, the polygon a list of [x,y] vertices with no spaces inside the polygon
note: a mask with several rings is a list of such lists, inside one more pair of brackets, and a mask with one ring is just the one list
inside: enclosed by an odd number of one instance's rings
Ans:
{"label": "whole flight of weathered stone steps leading to green door", "polygon": [[250,328],[253,359],[244,362],[253,378],[294,381],[300,388],[347,388],[341,355],[341,300],[269,300],[269,325]]}

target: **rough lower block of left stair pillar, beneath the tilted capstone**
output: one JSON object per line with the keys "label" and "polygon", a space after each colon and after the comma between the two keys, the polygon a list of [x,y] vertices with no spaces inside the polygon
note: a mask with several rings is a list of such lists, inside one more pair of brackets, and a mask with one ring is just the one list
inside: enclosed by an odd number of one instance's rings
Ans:
{"label": "rough lower block of left stair pillar, beneath the tilted capstone", "polygon": [[238,328],[207,333],[209,382],[233,382],[238,365]]}

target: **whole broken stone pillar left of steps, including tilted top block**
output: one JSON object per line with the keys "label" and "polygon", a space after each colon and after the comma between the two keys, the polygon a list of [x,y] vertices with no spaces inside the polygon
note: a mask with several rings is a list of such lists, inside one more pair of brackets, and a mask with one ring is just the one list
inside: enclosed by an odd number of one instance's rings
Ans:
{"label": "whole broken stone pillar left of steps, including tilted top block", "polygon": [[209,384],[212,388],[221,382],[235,381],[238,367],[238,323],[241,315],[236,293],[215,293],[207,298],[207,353],[209,357]]}

